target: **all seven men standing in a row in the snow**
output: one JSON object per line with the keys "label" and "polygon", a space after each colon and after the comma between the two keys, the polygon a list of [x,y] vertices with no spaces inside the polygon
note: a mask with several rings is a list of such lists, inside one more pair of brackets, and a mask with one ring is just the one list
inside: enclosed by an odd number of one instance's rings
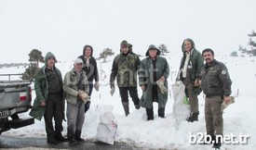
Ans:
{"label": "all seven men standing in a row in the snow", "polygon": [[[169,66],[167,59],[160,56],[160,53],[160,50],[151,44],[145,53],[146,57],[140,60],[140,57],[132,51],[132,44],[128,44],[126,40],[121,42],[120,54],[115,56],[111,69],[110,93],[115,94],[116,79],[126,116],[129,114],[129,94],[136,109],[145,108],[147,120],[154,119],[154,102],[158,103],[158,117],[165,118]],[[93,87],[97,91],[100,87],[97,62],[92,54],[92,46],[85,45],[83,55],[74,60],[74,69],[65,74],[63,82],[61,71],[55,67],[56,57],[50,52],[45,57],[46,65],[36,73],[34,79],[36,98],[30,115],[39,120],[44,116],[49,144],[58,144],[60,141],[78,144],[85,141],[81,138],[85,113],[90,106]],[[214,141],[215,135],[222,135],[221,105],[223,101],[230,100],[232,81],[225,65],[214,58],[213,50],[207,48],[201,54],[195,49],[192,39],[185,39],[182,43],[182,54],[177,81],[182,81],[185,85],[185,94],[191,105],[191,115],[187,121],[198,120],[197,95],[203,91],[206,95],[207,134]],[[94,84],[93,80],[95,80]],[[138,95],[138,85],[142,91],[141,98]],[[64,99],[67,102],[68,138],[61,135],[62,120],[65,119]],[[55,120],[55,129],[52,119]],[[214,145],[221,146],[221,143]]]}

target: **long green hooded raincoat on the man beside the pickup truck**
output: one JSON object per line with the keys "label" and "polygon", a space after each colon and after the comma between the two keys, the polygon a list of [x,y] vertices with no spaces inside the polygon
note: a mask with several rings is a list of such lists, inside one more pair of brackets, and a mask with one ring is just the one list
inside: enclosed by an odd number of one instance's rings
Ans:
{"label": "long green hooded raincoat on the man beside the pickup truck", "polygon": [[[46,101],[48,98],[48,84],[47,84],[47,76],[46,76],[46,68],[47,68],[47,60],[50,57],[54,57],[55,56],[48,52],[47,56],[46,56],[46,65],[43,66],[41,69],[39,69],[39,71],[36,73],[35,78],[34,78],[34,91],[36,94],[36,97],[34,99],[34,105],[32,107],[32,110],[30,112],[30,116],[32,116],[34,119],[38,119],[41,120],[42,117],[45,115],[45,111],[46,111],[46,106],[40,106],[40,103],[43,101]],[[60,78],[61,81],[61,86],[62,86],[62,77],[61,77],[61,71],[59,69],[57,69],[56,67],[54,67],[54,69],[56,70],[58,77]],[[62,107],[62,117],[64,118],[64,110],[65,110],[65,96],[64,96],[64,92],[61,89],[61,107]]]}

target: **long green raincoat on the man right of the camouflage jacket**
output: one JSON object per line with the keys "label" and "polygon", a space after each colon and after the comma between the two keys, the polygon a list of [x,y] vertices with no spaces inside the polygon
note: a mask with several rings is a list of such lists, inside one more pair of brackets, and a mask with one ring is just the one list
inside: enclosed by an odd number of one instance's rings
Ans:
{"label": "long green raincoat on the man right of the camouflage jacket", "polygon": [[[169,66],[168,61],[165,57],[157,56],[156,57],[156,79],[159,80],[162,76],[166,78],[164,85],[168,88],[168,75],[169,75]],[[141,60],[141,69],[139,71],[139,84],[145,85],[146,90],[143,92],[141,96],[140,105],[145,108],[152,108],[152,88],[155,84],[153,79],[153,64],[152,59],[150,57],[146,57]],[[158,107],[165,107],[168,101],[168,93],[162,94],[157,88],[157,96],[158,96]]]}

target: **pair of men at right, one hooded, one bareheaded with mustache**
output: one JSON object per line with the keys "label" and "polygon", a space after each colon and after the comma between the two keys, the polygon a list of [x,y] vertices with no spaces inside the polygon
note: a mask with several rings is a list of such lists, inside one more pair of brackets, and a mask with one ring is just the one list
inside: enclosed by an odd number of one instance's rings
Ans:
{"label": "pair of men at right, one hooded, one bareheaded with mustache", "polygon": [[[202,54],[195,49],[192,39],[185,39],[182,43],[182,62],[176,81],[185,85],[185,94],[191,105],[189,122],[198,120],[198,98],[202,91],[205,94],[205,121],[208,142],[214,148],[222,145],[223,134],[222,103],[231,101],[230,76],[225,65],[214,58],[214,51],[210,48]],[[205,60],[205,64],[204,64]],[[217,139],[219,138],[219,139]]]}

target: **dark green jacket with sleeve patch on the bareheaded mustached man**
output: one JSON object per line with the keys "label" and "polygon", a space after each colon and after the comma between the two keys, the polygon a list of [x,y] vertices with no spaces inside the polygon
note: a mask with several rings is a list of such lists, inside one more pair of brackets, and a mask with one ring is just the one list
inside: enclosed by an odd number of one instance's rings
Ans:
{"label": "dark green jacket with sleeve patch on the bareheaded mustached man", "polygon": [[201,88],[207,97],[231,94],[231,84],[228,70],[222,62],[213,60],[211,66],[205,64],[201,69]]}

